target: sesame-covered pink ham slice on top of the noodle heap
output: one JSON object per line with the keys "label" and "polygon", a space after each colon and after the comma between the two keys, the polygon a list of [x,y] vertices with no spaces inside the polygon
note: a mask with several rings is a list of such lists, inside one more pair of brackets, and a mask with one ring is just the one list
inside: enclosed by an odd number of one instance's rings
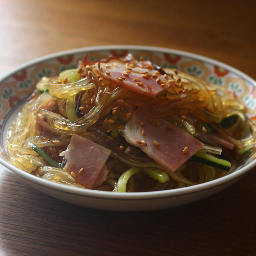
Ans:
{"label": "sesame-covered pink ham slice on top of the noodle heap", "polygon": [[[130,65],[130,66],[129,66]],[[175,81],[166,74],[158,74],[152,66],[141,68],[132,64],[112,61],[99,63],[100,70],[94,68],[94,72],[99,73],[118,86],[127,88],[133,92],[154,97],[172,86]],[[152,77],[157,76],[155,78]],[[169,81],[169,82],[168,82]],[[162,84],[162,86],[161,86]]]}

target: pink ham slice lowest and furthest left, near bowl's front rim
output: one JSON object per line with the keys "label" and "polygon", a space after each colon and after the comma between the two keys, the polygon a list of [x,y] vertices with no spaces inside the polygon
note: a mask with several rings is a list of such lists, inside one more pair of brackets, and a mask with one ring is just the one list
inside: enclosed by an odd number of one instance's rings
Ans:
{"label": "pink ham slice lowest and furthest left, near bowl's front rim", "polygon": [[[110,150],[104,148],[91,140],[73,134],[68,148],[61,152],[65,156],[67,163],[64,170],[74,172],[76,180],[86,188],[95,188],[100,186],[108,174],[108,168],[105,165]],[[78,174],[79,170],[84,170]]]}

